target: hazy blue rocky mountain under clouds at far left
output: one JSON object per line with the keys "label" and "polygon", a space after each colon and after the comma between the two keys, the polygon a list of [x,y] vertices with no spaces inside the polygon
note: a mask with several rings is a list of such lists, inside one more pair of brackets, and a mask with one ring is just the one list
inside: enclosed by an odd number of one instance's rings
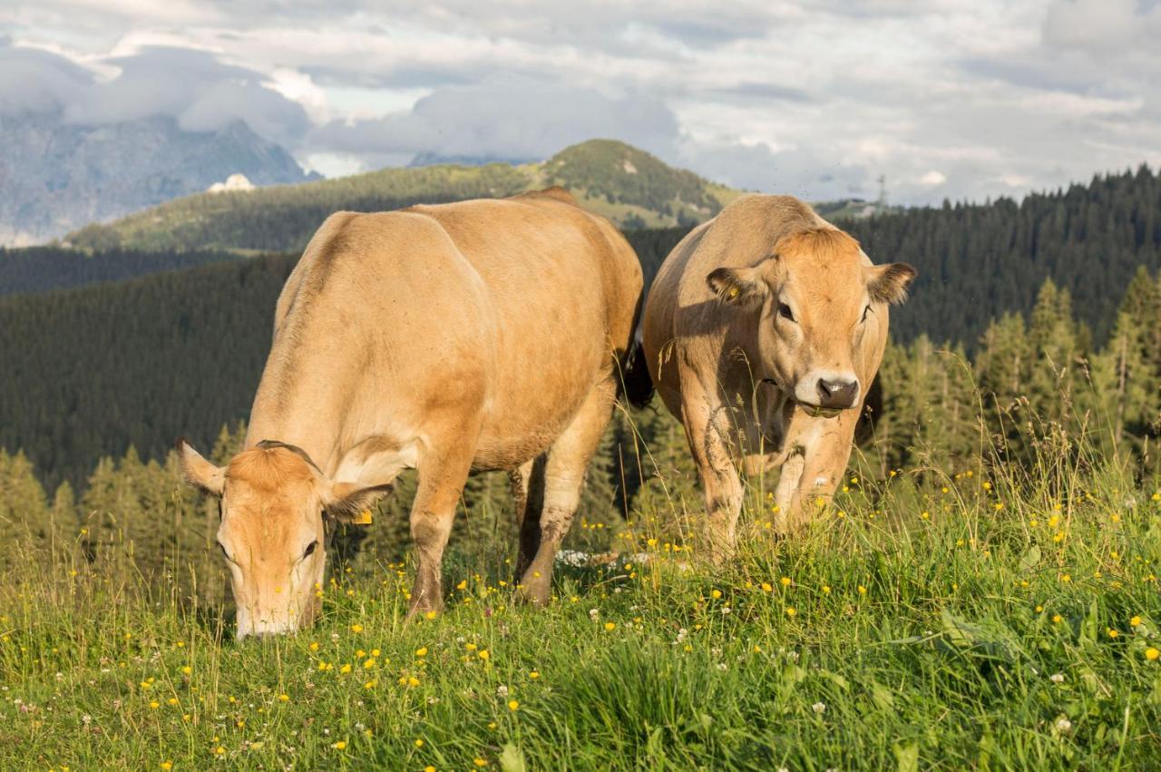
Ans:
{"label": "hazy blue rocky mountain under clouds at far left", "polygon": [[167,116],[109,125],[65,123],[56,113],[0,116],[0,245],[45,241],[231,174],[254,185],[309,179],[241,121],[186,131]]}

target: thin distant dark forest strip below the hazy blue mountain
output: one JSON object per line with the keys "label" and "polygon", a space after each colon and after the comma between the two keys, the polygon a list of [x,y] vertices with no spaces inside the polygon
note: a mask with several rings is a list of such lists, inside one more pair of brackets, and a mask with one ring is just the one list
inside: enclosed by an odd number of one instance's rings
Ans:
{"label": "thin distant dark forest strip below the hazy blue mountain", "polygon": [[123,281],[237,259],[238,255],[231,252],[108,250],[89,253],[59,246],[0,247],[0,295]]}

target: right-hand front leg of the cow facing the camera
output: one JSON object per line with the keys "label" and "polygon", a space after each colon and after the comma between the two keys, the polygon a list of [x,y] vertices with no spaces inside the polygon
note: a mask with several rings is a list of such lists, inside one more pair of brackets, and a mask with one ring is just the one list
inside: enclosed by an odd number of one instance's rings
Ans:
{"label": "right-hand front leg of the cow facing the camera", "polygon": [[809,439],[783,466],[774,492],[779,508],[774,528],[780,534],[793,533],[809,522],[821,508],[820,499],[822,504],[830,502],[851,457],[854,419],[843,416],[832,421],[810,420],[827,423],[820,424],[819,431],[806,432]]}

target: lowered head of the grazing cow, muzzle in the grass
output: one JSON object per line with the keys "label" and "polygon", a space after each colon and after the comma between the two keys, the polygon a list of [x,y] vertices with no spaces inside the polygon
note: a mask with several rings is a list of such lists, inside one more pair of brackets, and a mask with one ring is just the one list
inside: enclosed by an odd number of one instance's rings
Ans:
{"label": "lowered head of the grazing cow, muzzle in the grass", "polygon": [[324,518],[351,521],[390,485],[332,483],[301,449],[264,441],[225,467],[183,440],[186,478],[221,498],[217,543],[230,568],[238,637],[289,633],[313,622],[326,568]]}

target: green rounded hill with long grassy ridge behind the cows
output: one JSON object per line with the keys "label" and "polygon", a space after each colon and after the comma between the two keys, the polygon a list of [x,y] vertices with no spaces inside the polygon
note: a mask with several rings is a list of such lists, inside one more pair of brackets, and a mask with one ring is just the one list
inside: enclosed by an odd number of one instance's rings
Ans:
{"label": "green rounded hill with long grassy ridge behind the cows", "polygon": [[89,226],[67,241],[84,248],[296,251],[339,209],[383,211],[550,185],[568,188],[582,205],[628,229],[699,223],[741,195],[625,143],[593,139],[540,164],[385,168],[248,193],[192,195]]}

